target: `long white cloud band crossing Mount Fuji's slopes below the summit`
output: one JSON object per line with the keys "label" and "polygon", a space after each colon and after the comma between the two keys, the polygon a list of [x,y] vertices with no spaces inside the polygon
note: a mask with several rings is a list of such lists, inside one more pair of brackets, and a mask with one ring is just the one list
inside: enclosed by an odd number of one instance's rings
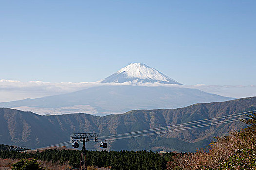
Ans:
{"label": "long white cloud band crossing Mount Fuji's slopes below the summit", "polygon": [[256,85],[172,85],[161,83],[142,83],[142,82],[124,82],[124,83],[100,83],[98,82],[42,82],[29,81],[21,82],[17,80],[0,80],[0,102],[14,101],[26,98],[37,98],[56,94],[74,92],[94,86],[102,85],[139,85],[139,86],[169,86],[182,88],[195,88],[208,93],[214,93],[227,97],[249,97],[256,96]]}

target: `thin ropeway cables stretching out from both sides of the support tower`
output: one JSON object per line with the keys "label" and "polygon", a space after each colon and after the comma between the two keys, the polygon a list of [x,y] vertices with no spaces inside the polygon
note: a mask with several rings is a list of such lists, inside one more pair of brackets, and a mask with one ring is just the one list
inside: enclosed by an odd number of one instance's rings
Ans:
{"label": "thin ropeway cables stretching out from both sides of the support tower", "polygon": [[[236,113],[236,114],[231,114],[231,115],[226,115],[226,116],[221,116],[221,117],[216,117],[216,118],[202,119],[202,120],[197,120],[197,121],[192,121],[192,122],[187,122],[187,123],[180,123],[180,124],[176,124],[176,125],[158,127],[158,128],[153,128],[153,129],[147,129],[147,130],[141,130],[141,131],[135,131],[135,132],[129,132],[129,133],[123,133],[123,134],[116,134],[116,135],[109,135],[109,136],[101,136],[101,137],[98,137],[98,138],[109,138],[109,137],[116,137],[116,136],[124,136],[124,137],[119,137],[119,138],[108,139],[108,140],[118,140],[118,139],[123,139],[123,138],[149,136],[150,134],[151,135],[157,135],[157,134],[172,132],[174,130],[177,131],[179,129],[160,131],[160,132],[154,132],[154,133],[147,133],[147,134],[140,134],[140,135],[136,135],[136,136],[127,136],[127,135],[133,135],[133,134],[138,134],[138,133],[145,133],[145,132],[150,132],[150,131],[157,131],[157,130],[167,129],[167,128],[171,128],[171,127],[174,128],[174,127],[177,127],[177,126],[197,124],[197,123],[207,122],[207,121],[210,121],[210,120],[215,121],[215,120],[220,120],[220,119],[225,119],[225,118],[229,119],[229,118],[239,117],[242,114],[249,113],[249,112],[254,112],[254,111],[256,111],[256,110],[248,111],[248,112],[241,112],[241,113]],[[248,117],[245,117],[245,118],[248,118]],[[233,122],[233,120],[238,121],[240,119],[243,119],[243,118],[232,119],[232,120],[224,120],[224,121],[219,121],[219,122],[215,122],[215,123],[206,123],[206,124],[201,124],[201,125],[192,126],[192,127],[199,128],[199,127],[215,125],[216,123],[220,123],[220,124],[229,123],[229,122]],[[187,130],[187,129],[192,129],[192,128],[191,127],[180,128],[180,130]],[[49,146],[45,146],[45,147],[41,147],[41,148],[35,148],[33,150],[44,150],[45,148],[50,148],[50,147],[62,147],[62,146],[66,146],[68,143],[70,143],[70,141],[62,142],[62,143],[59,143],[59,144],[56,144],[56,145],[49,145]]]}

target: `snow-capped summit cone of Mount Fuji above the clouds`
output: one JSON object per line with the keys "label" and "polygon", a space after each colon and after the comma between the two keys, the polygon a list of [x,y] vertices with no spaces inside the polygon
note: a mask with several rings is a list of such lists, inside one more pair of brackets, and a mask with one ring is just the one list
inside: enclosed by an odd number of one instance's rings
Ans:
{"label": "snow-capped summit cone of Mount Fuji above the clouds", "polygon": [[118,72],[102,80],[102,83],[124,83],[124,82],[158,82],[163,84],[183,85],[158,70],[151,68],[143,63],[131,63],[121,68]]}

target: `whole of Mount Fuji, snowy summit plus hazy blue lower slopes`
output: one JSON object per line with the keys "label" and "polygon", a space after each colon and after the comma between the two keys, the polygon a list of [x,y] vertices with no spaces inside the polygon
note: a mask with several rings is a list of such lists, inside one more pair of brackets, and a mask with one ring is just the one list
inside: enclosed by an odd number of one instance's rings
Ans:
{"label": "whole of Mount Fuji, snowy summit plus hazy blue lower slopes", "polygon": [[41,115],[89,113],[103,116],[137,109],[178,108],[234,99],[187,88],[142,63],[131,63],[101,80],[99,84],[67,94],[2,102],[0,107],[32,111]]}

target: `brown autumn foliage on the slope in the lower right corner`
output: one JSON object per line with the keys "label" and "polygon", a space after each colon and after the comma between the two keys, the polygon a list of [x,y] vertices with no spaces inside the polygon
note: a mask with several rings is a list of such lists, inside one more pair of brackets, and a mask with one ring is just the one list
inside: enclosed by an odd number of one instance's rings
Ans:
{"label": "brown autumn foliage on the slope in the lower right corner", "polygon": [[168,170],[255,170],[256,112],[242,120],[250,125],[229,136],[216,137],[208,148],[196,153],[179,153],[167,165]]}

